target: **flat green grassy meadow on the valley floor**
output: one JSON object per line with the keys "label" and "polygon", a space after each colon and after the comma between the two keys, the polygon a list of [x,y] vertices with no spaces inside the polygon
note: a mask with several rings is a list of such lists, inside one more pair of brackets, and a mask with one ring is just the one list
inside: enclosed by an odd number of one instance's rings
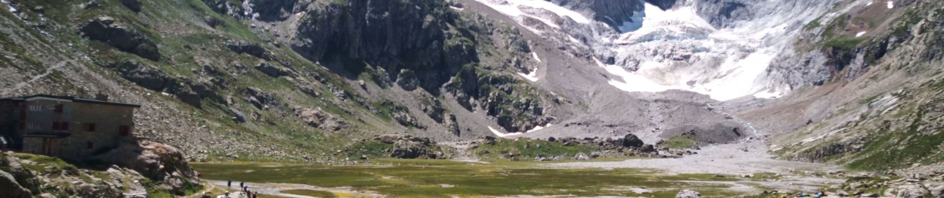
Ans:
{"label": "flat green grassy meadow on the valley floor", "polygon": [[[275,163],[195,163],[205,179],[258,183],[294,183],[351,187],[391,197],[495,197],[574,195],[674,197],[679,190],[699,190],[706,197],[731,197],[726,191],[742,179],[714,175],[666,175],[642,169],[562,169],[547,162],[452,160],[373,160],[373,165],[295,165]],[[633,189],[649,192],[637,193]],[[329,197],[325,191],[283,193]],[[317,195],[320,194],[320,195]]]}

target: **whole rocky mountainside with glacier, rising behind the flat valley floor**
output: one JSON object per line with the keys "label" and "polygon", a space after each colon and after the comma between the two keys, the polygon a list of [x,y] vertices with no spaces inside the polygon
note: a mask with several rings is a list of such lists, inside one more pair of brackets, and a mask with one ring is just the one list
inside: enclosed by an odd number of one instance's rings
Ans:
{"label": "whole rocky mountainside with glacier, rising behind the flat valley floor", "polygon": [[139,135],[189,160],[337,162],[392,133],[940,159],[936,1],[2,2],[0,95],[141,103]]}

